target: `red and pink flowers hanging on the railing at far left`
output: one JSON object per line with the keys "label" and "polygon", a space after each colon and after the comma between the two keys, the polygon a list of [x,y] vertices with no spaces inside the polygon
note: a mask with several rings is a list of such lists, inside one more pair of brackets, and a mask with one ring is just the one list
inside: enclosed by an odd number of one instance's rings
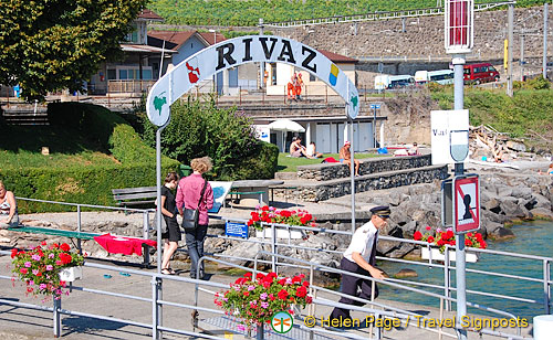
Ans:
{"label": "red and pink flowers hanging on the railing at far left", "polygon": [[65,267],[80,266],[84,262],[83,256],[70,253],[70,249],[66,243],[46,246],[46,242],[28,251],[13,248],[12,272],[25,284],[28,294],[52,295],[59,298],[65,287],[65,281],[60,280],[60,272]]}

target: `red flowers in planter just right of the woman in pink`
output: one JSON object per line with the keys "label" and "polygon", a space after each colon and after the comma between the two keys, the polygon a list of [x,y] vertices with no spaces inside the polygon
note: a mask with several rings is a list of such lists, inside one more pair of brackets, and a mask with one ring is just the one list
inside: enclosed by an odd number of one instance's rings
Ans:
{"label": "red flowers in planter just right of the woman in pink", "polygon": [[248,221],[249,226],[262,230],[261,222],[280,223],[290,225],[311,225],[315,226],[315,219],[305,210],[279,210],[273,206],[258,208],[251,212],[251,219]]}

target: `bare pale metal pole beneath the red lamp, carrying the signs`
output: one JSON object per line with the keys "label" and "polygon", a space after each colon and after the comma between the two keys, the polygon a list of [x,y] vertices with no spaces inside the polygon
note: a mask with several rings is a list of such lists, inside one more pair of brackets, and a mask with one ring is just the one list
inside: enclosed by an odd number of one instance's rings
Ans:
{"label": "bare pale metal pole beneath the red lamp, carrying the signs", "polygon": [[[453,55],[453,93],[455,109],[463,108],[463,65],[465,54]],[[455,176],[463,174],[463,163],[455,163]],[[465,235],[456,235],[456,283],[457,283],[457,320],[461,320],[467,315],[467,287],[466,287],[466,263],[465,263]],[[467,340],[467,330],[457,329],[457,339]]]}

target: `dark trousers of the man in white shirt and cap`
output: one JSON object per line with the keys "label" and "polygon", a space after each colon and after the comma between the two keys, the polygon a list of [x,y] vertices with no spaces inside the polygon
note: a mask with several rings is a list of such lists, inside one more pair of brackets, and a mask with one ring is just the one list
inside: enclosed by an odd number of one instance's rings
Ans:
{"label": "dark trousers of the man in white shirt and cap", "polygon": [[[359,267],[356,263],[351,262],[347,258],[342,258],[342,262],[340,263],[340,268],[342,270],[347,270],[351,273],[355,274],[361,274],[365,276],[371,276],[367,270],[363,269]],[[355,297],[359,297],[362,299],[367,299],[371,300],[371,293],[373,291],[372,289],[372,284],[373,281],[368,279],[363,279],[349,275],[342,275],[342,289],[341,291],[343,294],[352,295]],[[361,293],[357,293],[358,287],[361,287]],[[375,284],[375,298],[378,296],[378,287]],[[351,298],[347,297],[342,297],[340,299],[341,304],[346,304],[346,305],[353,305],[353,306],[363,306],[365,305],[364,302],[352,300]],[[349,316],[349,309],[343,309],[343,308],[334,308],[334,310],[331,314],[331,319],[347,319],[351,318]]]}

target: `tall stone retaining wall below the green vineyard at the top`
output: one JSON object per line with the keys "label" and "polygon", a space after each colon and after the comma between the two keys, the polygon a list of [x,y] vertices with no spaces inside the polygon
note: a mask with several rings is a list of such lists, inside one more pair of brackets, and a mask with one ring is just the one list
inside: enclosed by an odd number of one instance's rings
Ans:
{"label": "tall stone retaining wall below the green vineyard at the top", "polygon": [[[518,8],[514,11],[515,29],[522,20],[526,29],[536,29],[536,35],[526,36],[526,56],[541,56],[543,7]],[[553,22],[553,7],[549,8],[549,20]],[[352,57],[364,56],[447,56],[444,47],[444,17],[408,18],[403,31],[401,19],[365,21],[357,23],[321,24],[295,29],[274,29],[276,35],[289,36],[316,49],[323,49]],[[268,28],[269,30],[269,28]],[[473,53],[480,59],[503,59],[503,40],[507,30],[507,10],[474,13]],[[550,34],[552,24],[549,25]],[[520,51],[520,39],[514,35],[514,57]],[[553,41],[549,40],[550,51]]]}

